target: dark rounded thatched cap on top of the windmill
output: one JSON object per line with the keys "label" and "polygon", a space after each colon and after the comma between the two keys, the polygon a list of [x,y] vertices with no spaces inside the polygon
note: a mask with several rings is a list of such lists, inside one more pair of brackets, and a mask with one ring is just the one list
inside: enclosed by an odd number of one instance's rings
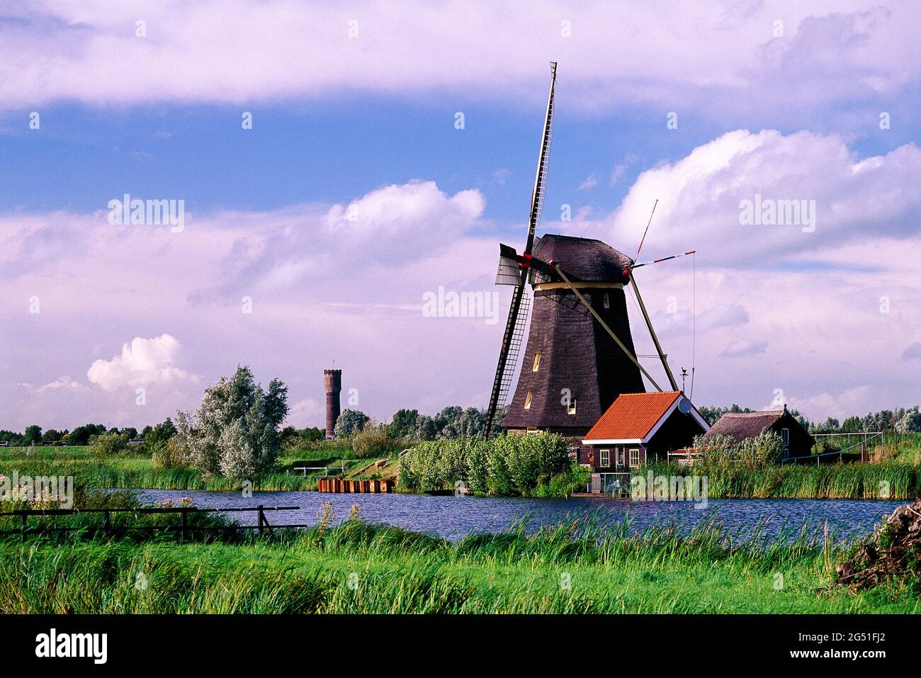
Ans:
{"label": "dark rounded thatched cap on top of the windmill", "polygon": [[633,263],[600,240],[547,233],[534,242],[533,256],[542,262],[555,262],[570,280],[626,283],[624,268]]}

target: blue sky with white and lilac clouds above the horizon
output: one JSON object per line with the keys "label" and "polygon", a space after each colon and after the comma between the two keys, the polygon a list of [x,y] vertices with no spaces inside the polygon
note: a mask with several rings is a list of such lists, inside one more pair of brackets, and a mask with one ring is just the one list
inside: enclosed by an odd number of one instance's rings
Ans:
{"label": "blue sky with white and lilac clouds above the horizon", "polygon": [[657,205],[639,259],[696,253],[636,282],[694,403],[921,403],[919,34],[910,2],[6,0],[0,428],[140,428],[238,365],[297,427],[333,361],[379,421],[484,407],[551,61],[538,235],[633,257]]}

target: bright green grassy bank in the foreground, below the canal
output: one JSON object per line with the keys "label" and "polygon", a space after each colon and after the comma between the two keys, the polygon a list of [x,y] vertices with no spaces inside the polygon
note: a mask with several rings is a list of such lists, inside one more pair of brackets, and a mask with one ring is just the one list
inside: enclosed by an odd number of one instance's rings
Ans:
{"label": "bright green grassy bank in the foreground, below the canal", "polygon": [[[0,612],[917,613],[916,582],[832,585],[840,544],[729,546],[573,523],[456,544],[349,520],[257,543],[0,544]],[[138,585],[143,573],[143,585]]]}

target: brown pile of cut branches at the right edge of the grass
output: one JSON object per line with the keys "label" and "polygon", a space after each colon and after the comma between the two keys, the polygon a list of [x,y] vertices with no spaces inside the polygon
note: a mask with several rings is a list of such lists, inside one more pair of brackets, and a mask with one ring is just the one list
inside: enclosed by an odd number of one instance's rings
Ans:
{"label": "brown pile of cut branches at the right edge of the grass", "polygon": [[872,589],[891,577],[921,576],[921,499],[895,509],[835,571],[838,583],[854,590]]}

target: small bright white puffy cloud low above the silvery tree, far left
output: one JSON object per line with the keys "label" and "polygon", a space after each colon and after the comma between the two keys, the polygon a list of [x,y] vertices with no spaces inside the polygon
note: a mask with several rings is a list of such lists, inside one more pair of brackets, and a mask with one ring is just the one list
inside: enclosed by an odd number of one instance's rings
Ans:
{"label": "small bright white puffy cloud low above the silvery tree, far left", "polygon": [[131,344],[122,344],[121,355],[96,360],[87,370],[87,379],[107,391],[194,380],[193,374],[175,365],[180,348],[179,340],[169,334],[151,339],[136,336]]}

